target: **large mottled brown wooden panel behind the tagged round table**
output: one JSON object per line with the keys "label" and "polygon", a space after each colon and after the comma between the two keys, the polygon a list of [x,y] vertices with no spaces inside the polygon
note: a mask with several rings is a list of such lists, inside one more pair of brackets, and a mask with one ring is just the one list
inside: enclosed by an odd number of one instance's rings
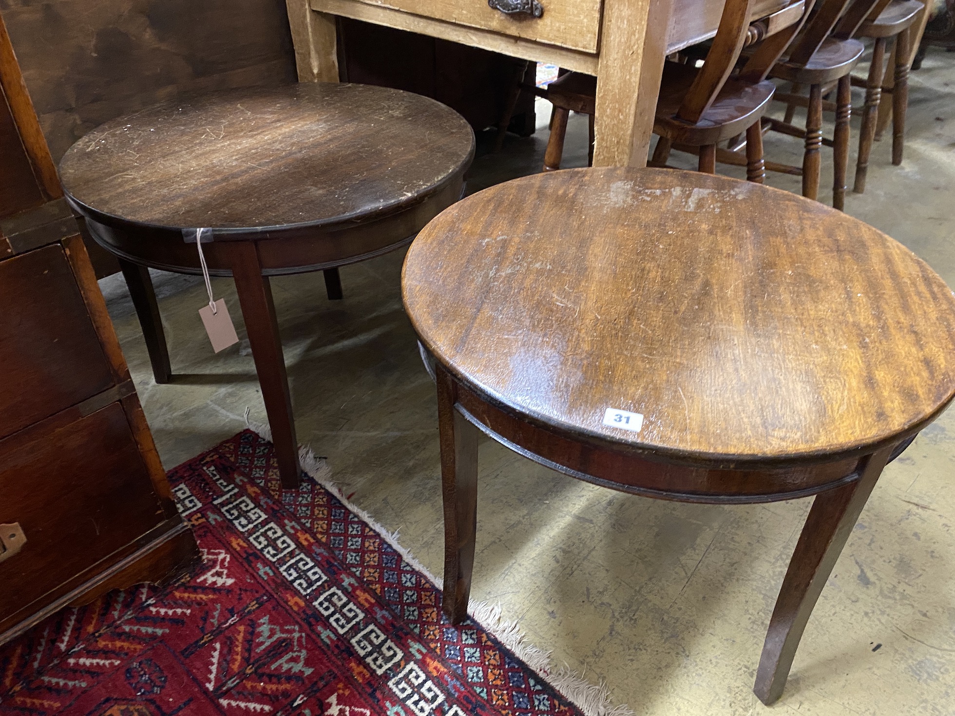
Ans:
{"label": "large mottled brown wooden panel behind the tagged round table", "polygon": [[285,0],[0,7],[56,160],[96,125],[162,99],[296,78]]}

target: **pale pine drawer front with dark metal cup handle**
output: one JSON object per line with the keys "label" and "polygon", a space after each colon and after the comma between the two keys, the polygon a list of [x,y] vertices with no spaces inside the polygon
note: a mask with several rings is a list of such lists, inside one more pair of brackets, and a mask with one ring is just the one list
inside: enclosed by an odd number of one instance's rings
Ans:
{"label": "pale pine drawer front with dark metal cup handle", "polygon": [[[541,17],[504,14],[488,0],[351,0],[456,25],[596,53],[603,0],[539,0]],[[317,8],[316,8],[317,9]]]}

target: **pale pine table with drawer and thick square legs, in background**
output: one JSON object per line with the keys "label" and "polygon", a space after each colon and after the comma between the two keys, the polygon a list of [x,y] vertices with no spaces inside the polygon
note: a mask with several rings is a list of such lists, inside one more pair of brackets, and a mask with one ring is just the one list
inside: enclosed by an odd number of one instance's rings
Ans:
{"label": "pale pine table with drawer and thick square legs, in background", "polygon": [[[720,0],[540,0],[541,17],[487,0],[286,0],[299,80],[338,80],[335,16],[594,74],[595,166],[644,166],[663,63],[716,33]],[[754,0],[753,19],[786,5]]]}

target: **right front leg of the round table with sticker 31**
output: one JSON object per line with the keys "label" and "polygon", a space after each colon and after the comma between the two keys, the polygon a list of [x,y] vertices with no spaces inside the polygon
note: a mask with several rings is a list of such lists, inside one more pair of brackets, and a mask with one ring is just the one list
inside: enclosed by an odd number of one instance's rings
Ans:
{"label": "right front leg of the round table with sticker 31", "polygon": [[770,705],[782,695],[796,648],[892,448],[869,455],[855,482],[816,496],[779,589],[753,692]]}

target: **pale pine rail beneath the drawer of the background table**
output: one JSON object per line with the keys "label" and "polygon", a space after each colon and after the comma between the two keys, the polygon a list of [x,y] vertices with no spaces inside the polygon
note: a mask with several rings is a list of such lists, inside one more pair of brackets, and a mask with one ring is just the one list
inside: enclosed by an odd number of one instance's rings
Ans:
{"label": "pale pine rail beneath the drawer of the background table", "polygon": [[509,54],[512,57],[550,62],[554,65],[582,72],[597,74],[597,57],[591,53],[568,50],[557,45],[546,45],[522,37],[505,35],[500,32],[456,25],[443,20],[413,15],[410,12],[393,10],[379,5],[358,2],[357,0],[309,0],[311,9],[333,15],[342,15],[355,20],[386,25],[398,30],[420,32],[440,37],[462,45],[479,47],[495,53]]}

